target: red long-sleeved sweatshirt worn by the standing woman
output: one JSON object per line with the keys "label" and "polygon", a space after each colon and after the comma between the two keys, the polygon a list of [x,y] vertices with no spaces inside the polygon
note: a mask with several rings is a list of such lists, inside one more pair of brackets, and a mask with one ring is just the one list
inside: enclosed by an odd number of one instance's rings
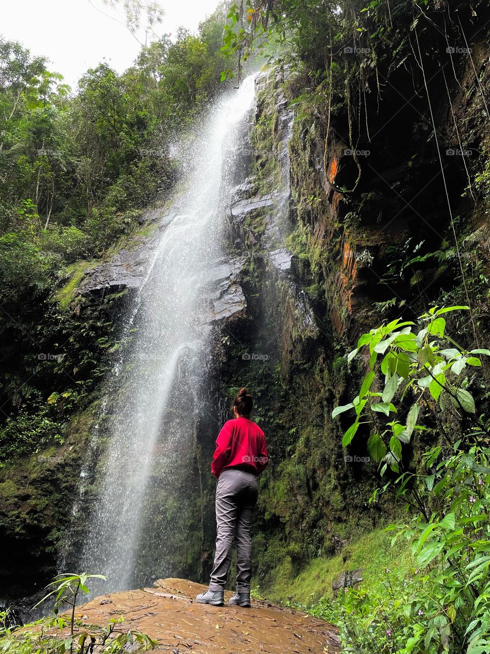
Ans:
{"label": "red long-sleeved sweatshirt worn by the standing woman", "polygon": [[223,424],[211,464],[215,477],[227,468],[240,468],[258,475],[267,468],[267,463],[267,443],[258,424],[243,416]]}

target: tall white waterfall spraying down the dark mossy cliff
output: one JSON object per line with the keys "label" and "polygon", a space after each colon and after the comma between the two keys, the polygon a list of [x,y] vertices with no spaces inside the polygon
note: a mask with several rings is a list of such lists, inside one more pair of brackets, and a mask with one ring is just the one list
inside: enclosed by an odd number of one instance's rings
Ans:
{"label": "tall white waterfall spraying down the dark mossy cliff", "polygon": [[251,76],[210,112],[190,164],[187,158],[176,215],[125,318],[131,344],[113,373],[119,383],[110,384],[114,409],[103,428],[108,444],[80,561],[80,570],[108,577],[97,593],[176,572],[165,570],[172,549],[191,538],[185,530],[197,498],[189,506],[184,491],[192,485],[195,398],[208,346],[203,296],[212,264],[223,254],[225,162],[252,99]]}

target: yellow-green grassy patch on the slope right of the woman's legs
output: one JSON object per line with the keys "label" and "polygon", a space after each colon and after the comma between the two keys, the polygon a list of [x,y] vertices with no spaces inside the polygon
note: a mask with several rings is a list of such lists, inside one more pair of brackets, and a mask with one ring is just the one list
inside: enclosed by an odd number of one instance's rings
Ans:
{"label": "yellow-green grassy patch on the slope right of the woman's legs", "polygon": [[[291,564],[284,561],[276,569],[276,579],[262,593],[276,602],[311,606],[322,597],[333,599],[332,583],[345,570],[363,569],[361,589],[374,589],[385,568],[396,568],[410,557],[408,545],[397,543],[391,547],[391,535],[376,529],[344,548],[342,554],[326,559],[313,559],[299,574],[292,574]],[[344,562],[343,556],[348,558]]]}

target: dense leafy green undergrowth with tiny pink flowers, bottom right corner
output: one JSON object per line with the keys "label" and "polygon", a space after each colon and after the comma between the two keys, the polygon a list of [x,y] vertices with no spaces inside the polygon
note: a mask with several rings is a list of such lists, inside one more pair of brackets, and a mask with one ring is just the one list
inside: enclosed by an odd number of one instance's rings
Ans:
{"label": "dense leafy green undergrowth with tiny pink flowers, bottom right corner", "polygon": [[[372,593],[348,589],[340,617],[346,652],[481,654],[490,645],[490,450],[436,448],[419,494],[428,521],[393,525],[411,543],[415,567],[385,570]],[[434,472],[433,472],[434,471]]]}

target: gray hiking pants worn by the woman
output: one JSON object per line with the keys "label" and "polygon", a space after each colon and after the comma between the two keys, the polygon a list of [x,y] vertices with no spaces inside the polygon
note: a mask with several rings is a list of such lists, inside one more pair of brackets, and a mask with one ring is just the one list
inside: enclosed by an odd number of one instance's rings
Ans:
{"label": "gray hiking pants worn by the woman", "polygon": [[257,479],[252,472],[223,470],[216,487],[216,555],[210,591],[222,591],[231,564],[233,540],[237,545],[237,593],[250,591],[252,578],[253,508],[257,503]]}

